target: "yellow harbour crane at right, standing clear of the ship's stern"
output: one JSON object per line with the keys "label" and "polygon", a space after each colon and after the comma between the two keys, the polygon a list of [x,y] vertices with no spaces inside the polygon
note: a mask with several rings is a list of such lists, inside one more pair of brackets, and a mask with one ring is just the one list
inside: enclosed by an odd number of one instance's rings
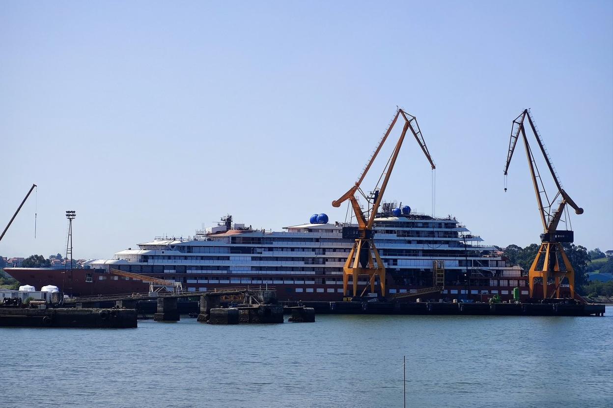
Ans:
{"label": "yellow harbour crane at right, standing clear of the ship's stern", "polygon": [[[557,193],[552,199],[549,199],[549,196],[545,191],[543,179],[541,179],[541,174],[536,166],[535,157],[530,148],[530,144],[528,144],[528,138],[524,128],[524,122],[526,119],[528,119],[528,124],[532,129],[532,133],[535,135],[539,150],[541,150],[541,153],[543,153],[547,168],[549,169],[549,172],[554,179],[555,186],[558,189]],[[536,193],[536,202],[538,203],[539,214],[541,215],[541,221],[543,222],[541,247],[536,254],[535,260],[530,266],[530,272],[528,272],[528,279],[530,279],[530,282],[528,282],[528,285],[530,286],[530,298],[532,298],[534,294],[535,278],[543,278],[543,298],[547,298],[547,280],[549,280],[549,277],[555,279],[555,294],[558,298],[560,298],[560,285],[565,277],[568,278],[571,298],[574,298],[574,269],[568,260],[566,253],[564,252],[564,248],[562,247],[562,242],[574,241],[574,234],[571,230],[557,228],[560,220],[562,219],[562,215],[565,214],[565,210],[568,212],[566,209],[566,204],[573,207],[577,214],[583,214],[583,209],[577,206],[573,199],[571,199],[562,188],[560,178],[558,177],[557,172],[555,172],[554,166],[552,165],[549,157],[549,153],[547,153],[547,149],[543,144],[543,138],[539,134],[535,121],[530,114],[530,110],[528,109],[525,109],[524,112],[522,112],[513,121],[511,128],[511,139],[509,140],[509,151],[506,157],[506,166],[504,166],[504,175],[507,175],[509,164],[511,164],[511,158],[515,150],[515,145],[517,144],[517,139],[519,139],[520,136],[522,137],[522,140],[524,140],[526,155],[528,158],[528,167],[530,168],[530,175],[532,177],[532,183]],[[506,187],[504,188],[504,191],[506,191]],[[554,204],[557,200],[559,200],[558,206],[555,207]],[[565,270],[560,268],[560,261],[563,262]]]}

